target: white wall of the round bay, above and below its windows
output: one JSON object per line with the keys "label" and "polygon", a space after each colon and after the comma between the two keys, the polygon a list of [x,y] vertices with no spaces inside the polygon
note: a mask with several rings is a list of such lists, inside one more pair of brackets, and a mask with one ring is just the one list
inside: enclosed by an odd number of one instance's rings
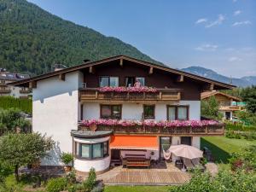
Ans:
{"label": "white wall of the round bay, above and below its windows", "polygon": [[[110,137],[96,138],[96,139],[79,139],[74,138],[78,143],[102,143],[109,141]],[[73,166],[75,170],[79,172],[90,172],[90,168],[95,168],[96,172],[102,172],[108,169],[110,165],[110,151],[108,150],[108,156],[101,160],[78,160],[74,159]]]}

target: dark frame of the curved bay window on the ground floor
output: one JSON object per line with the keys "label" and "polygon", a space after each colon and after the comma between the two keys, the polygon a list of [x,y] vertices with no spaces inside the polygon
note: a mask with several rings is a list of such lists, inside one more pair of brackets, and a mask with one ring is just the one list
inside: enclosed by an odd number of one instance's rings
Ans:
{"label": "dark frame of the curved bay window on the ground floor", "polygon": [[[104,153],[104,143],[107,144],[106,153]],[[108,157],[108,155],[109,155],[109,142],[108,141],[102,142],[102,143],[79,143],[79,142],[74,142],[74,144],[75,144],[74,156],[75,156],[76,159],[79,159],[79,160],[102,160],[102,159]],[[96,145],[96,144],[101,144],[102,156],[94,158],[93,148],[94,148],[94,145]],[[83,145],[89,146],[89,155],[88,155],[88,157],[82,157],[82,146]],[[78,150],[79,150],[79,153],[78,153]]]}

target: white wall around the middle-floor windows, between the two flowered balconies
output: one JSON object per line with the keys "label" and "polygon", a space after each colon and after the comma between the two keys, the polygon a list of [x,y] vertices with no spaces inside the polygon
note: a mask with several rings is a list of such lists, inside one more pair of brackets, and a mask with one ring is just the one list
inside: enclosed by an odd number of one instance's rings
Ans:
{"label": "white wall around the middle-floor windows, between the two flowered balconies", "polygon": [[[122,119],[142,119],[143,104],[142,103],[120,103],[122,104]],[[167,118],[166,105],[189,105],[189,119],[201,119],[201,102],[200,101],[180,101],[178,103],[161,102],[155,104],[155,119],[163,120]],[[100,118],[100,103],[84,102],[84,117],[83,119],[99,119]]]}

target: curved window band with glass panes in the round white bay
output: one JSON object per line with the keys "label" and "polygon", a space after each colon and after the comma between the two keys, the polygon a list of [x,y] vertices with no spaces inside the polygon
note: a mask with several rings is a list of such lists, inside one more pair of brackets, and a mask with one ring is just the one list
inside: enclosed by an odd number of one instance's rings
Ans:
{"label": "curved window band with glass panes in the round white bay", "polygon": [[108,142],[104,143],[76,143],[76,157],[80,159],[100,159],[108,156]]}

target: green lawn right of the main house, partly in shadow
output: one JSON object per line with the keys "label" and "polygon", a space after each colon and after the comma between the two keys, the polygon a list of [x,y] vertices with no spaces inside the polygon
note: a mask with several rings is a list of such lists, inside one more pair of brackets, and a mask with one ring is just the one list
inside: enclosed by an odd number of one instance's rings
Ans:
{"label": "green lawn right of the main house, partly in shadow", "polygon": [[219,163],[228,163],[231,153],[238,152],[249,145],[256,145],[256,141],[227,137],[201,137],[201,148],[209,148],[215,160]]}

